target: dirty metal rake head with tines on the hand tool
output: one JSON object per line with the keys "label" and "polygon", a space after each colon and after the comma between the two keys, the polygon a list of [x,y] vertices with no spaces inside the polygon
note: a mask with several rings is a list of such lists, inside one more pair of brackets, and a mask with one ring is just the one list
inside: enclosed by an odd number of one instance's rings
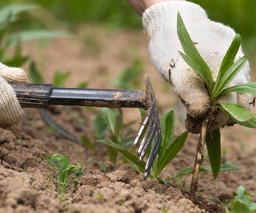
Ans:
{"label": "dirty metal rake head with tines on the hand tool", "polygon": [[[138,147],[137,153],[140,161],[142,161],[146,156],[146,153],[150,151],[144,170],[145,179],[150,174],[150,169],[152,168],[154,159],[158,154],[158,150],[161,147],[162,142],[158,108],[149,77],[146,77],[146,96],[148,102],[146,117],[144,118],[142,126],[138,131],[138,135],[134,140],[134,146]],[[154,143],[152,144],[153,140]]]}

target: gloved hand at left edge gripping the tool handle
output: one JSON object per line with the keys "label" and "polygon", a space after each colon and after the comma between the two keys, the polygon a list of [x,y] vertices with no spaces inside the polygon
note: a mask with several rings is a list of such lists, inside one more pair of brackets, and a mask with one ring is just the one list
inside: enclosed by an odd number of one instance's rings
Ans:
{"label": "gloved hand at left edge gripping the tool handle", "polygon": [[8,67],[0,63],[0,127],[9,128],[22,119],[22,108],[18,103],[14,89],[7,83],[25,83],[23,69]]}

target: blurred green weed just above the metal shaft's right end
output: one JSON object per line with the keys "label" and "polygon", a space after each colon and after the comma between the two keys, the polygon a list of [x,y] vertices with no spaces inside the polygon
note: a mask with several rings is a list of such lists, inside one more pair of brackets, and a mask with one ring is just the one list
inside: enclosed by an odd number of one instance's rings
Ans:
{"label": "blurred green weed just above the metal shaft's right end", "polygon": [[124,69],[114,84],[121,89],[138,89],[142,82],[142,61],[134,57],[130,65]]}

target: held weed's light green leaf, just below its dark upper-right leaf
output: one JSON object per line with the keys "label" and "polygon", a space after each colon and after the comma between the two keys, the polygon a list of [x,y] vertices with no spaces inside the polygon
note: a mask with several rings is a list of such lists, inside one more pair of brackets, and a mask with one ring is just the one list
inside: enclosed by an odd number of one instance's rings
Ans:
{"label": "held weed's light green leaf, just below its dark upper-right leaf", "polygon": [[246,65],[246,57],[241,57],[238,61],[235,61],[233,65],[230,66],[229,69],[223,73],[222,78],[214,87],[214,93],[212,96],[212,100],[216,101],[218,96],[226,87],[230,84],[230,82],[237,76],[240,70]]}

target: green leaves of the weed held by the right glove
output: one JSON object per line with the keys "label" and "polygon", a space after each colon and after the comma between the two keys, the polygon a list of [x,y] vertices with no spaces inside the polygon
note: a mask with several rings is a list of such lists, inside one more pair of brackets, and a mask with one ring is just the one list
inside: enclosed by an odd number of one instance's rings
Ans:
{"label": "green leaves of the weed held by the right glove", "polygon": [[[186,30],[186,26],[182,21],[181,15],[177,16],[177,31],[178,37],[181,41],[183,50],[186,54],[181,53],[184,61],[190,65],[194,72],[205,82],[208,93],[210,95],[211,105],[218,105],[223,112],[225,112],[231,119],[238,124],[246,127],[256,128],[256,116],[254,113],[248,111],[240,105],[222,103],[218,101],[226,93],[239,92],[239,93],[255,93],[255,83],[236,85],[229,88],[230,82],[238,75],[241,69],[246,65],[246,57],[241,57],[238,61],[234,61],[238,49],[241,45],[241,37],[235,35],[230,48],[227,50],[225,57],[222,60],[222,65],[218,72],[217,81],[213,84],[211,71],[206,65],[206,62],[198,53],[194,46],[194,42],[190,38],[190,34]],[[214,85],[214,87],[212,87]],[[206,135],[206,145],[210,157],[210,165],[213,172],[214,179],[218,177],[221,164],[221,139],[219,129],[215,132],[209,132]]]}

